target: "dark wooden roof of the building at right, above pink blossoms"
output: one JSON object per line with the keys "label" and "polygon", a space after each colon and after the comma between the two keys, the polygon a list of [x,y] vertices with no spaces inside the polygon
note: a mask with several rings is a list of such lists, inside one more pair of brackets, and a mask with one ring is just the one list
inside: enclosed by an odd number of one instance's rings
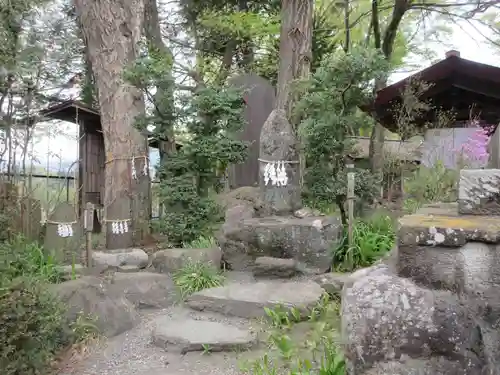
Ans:
{"label": "dark wooden roof of the building at right, above pink blossoms", "polygon": [[417,119],[416,126],[432,122],[436,108],[453,110],[457,121],[479,116],[486,123],[498,124],[500,68],[463,59],[453,52],[427,69],[378,91],[374,102],[363,110],[372,113],[387,129],[397,132],[395,104],[401,103],[402,93],[410,82],[421,81],[431,84],[421,100],[429,100],[434,109]]}

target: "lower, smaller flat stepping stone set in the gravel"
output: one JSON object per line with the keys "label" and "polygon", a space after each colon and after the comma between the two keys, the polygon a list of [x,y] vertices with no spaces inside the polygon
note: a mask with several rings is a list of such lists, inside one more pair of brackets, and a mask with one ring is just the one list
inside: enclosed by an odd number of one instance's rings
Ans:
{"label": "lower, smaller flat stepping stone set in the gravel", "polygon": [[222,352],[249,349],[255,336],[248,330],[205,320],[173,320],[161,317],[153,329],[153,344],[181,354],[196,351]]}

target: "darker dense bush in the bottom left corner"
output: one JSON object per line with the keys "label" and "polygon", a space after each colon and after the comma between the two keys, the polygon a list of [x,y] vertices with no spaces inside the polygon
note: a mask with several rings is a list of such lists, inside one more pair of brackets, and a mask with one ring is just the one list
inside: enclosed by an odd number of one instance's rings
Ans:
{"label": "darker dense bush in the bottom left corner", "polygon": [[43,279],[3,278],[0,284],[0,368],[5,375],[46,374],[70,342],[64,308]]}

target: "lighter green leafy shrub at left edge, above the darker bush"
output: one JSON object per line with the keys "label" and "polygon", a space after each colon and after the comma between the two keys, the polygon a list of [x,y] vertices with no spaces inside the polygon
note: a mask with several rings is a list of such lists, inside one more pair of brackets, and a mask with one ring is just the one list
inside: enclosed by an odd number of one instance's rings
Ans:
{"label": "lighter green leafy shrub at left edge, above the darker bush", "polygon": [[36,242],[16,236],[0,243],[0,276],[13,280],[20,276],[36,276],[50,283],[61,281],[60,264],[44,252]]}

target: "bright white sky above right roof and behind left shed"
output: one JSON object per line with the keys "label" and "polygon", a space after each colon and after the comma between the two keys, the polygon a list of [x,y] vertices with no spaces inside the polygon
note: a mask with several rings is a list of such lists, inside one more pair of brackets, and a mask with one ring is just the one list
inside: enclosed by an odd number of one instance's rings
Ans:
{"label": "bright white sky above right roof and behind left shed", "polygon": [[[479,32],[469,24],[458,24],[453,28],[452,38],[449,45],[438,43],[427,43],[427,47],[433,49],[438,58],[444,58],[444,55],[450,49],[456,49],[460,52],[461,57],[474,60],[477,62],[500,66],[500,56],[494,49],[488,45],[483,35],[491,35],[487,30],[479,30]],[[415,64],[415,61],[413,61]],[[425,68],[431,64],[430,61],[419,61],[421,68]],[[416,73],[402,68],[394,73],[390,81],[397,82],[407,76]],[[75,124],[45,124],[39,125],[43,127],[50,136],[37,137],[36,144],[33,145],[33,151],[36,158],[39,160],[40,166],[48,168],[52,171],[67,169],[68,165],[78,159],[77,148],[77,127]],[[150,153],[151,164],[154,165],[158,161],[158,152]],[[77,168],[73,167],[72,171]]]}

